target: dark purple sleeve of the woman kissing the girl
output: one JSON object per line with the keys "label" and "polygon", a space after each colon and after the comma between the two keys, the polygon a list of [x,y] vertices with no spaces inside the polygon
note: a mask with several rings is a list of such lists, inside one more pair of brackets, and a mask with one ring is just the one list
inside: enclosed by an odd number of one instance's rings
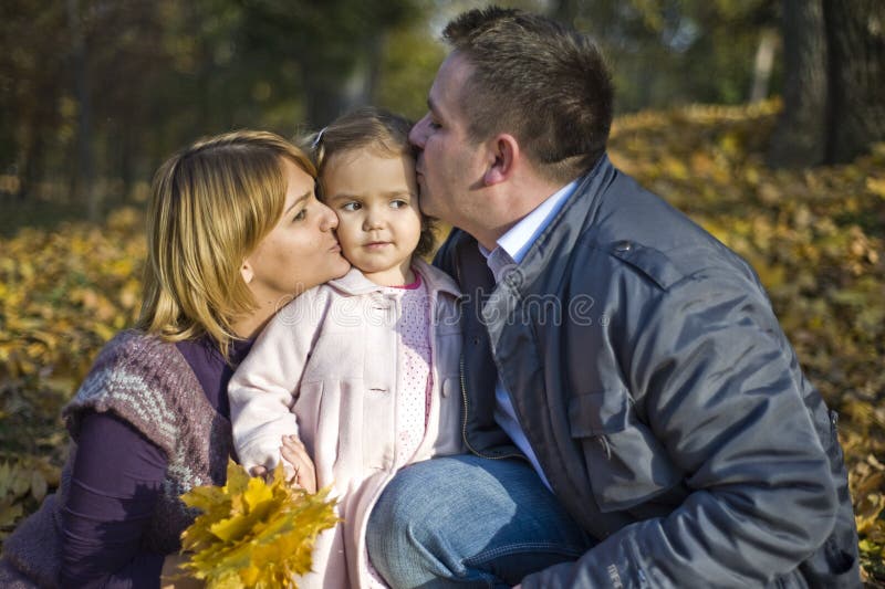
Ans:
{"label": "dark purple sleeve of the woman kissing the girl", "polygon": [[165,453],[111,413],[82,422],[62,512],[62,587],[156,588],[164,556],[144,551]]}

